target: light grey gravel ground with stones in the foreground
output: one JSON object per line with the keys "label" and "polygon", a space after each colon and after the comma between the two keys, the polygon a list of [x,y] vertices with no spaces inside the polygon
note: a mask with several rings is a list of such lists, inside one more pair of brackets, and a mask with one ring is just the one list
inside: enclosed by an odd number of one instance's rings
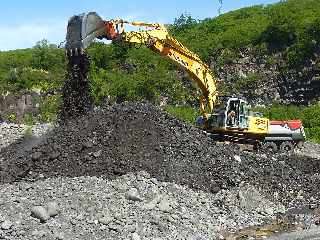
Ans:
{"label": "light grey gravel ground with stones in the foreground", "polygon": [[[0,239],[224,239],[284,210],[251,186],[213,195],[146,172],[5,184],[0,196]],[[48,203],[58,215],[41,222],[32,210]]]}

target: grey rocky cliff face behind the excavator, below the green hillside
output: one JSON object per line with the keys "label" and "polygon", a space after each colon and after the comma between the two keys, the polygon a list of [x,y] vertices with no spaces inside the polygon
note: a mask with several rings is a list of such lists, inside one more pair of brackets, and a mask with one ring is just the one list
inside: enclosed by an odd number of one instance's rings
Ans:
{"label": "grey rocky cliff face behind the excavator, below the green hillside", "polygon": [[227,94],[247,97],[253,104],[307,105],[320,99],[320,58],[315,53],[304,66],[286,68],[282,53],[266,55],[253,49],[239,51],[237,57],[213,58],[211,68]]}

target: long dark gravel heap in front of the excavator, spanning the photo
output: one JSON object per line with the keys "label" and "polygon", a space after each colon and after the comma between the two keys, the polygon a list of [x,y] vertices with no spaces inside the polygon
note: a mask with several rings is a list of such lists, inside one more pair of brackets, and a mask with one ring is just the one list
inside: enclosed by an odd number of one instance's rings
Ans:
{"label": "long dark gravel heap in front of the excavator, spanning the photo", "polygon": [[56,128],[31,151],[19,155],[17,148],[0,153],[1,183],[55,176],[114,179],[143,170],[161,181],[210,192],[244,181],[286,205],[315,204],[319,198],[318,160],[217,146],[199,129],[150,104],[105,106]]}

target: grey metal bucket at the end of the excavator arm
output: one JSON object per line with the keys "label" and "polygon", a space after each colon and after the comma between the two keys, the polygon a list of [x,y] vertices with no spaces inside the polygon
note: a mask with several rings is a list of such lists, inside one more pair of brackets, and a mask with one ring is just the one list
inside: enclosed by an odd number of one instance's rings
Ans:
{"label": "grey metal bucket at the end of the excavator arm", "polygon": [[70,55],[82,53],[95,38],[106,35],[105,22],[95,12],[84,13],[70,18],[66,36],[66,50]]}

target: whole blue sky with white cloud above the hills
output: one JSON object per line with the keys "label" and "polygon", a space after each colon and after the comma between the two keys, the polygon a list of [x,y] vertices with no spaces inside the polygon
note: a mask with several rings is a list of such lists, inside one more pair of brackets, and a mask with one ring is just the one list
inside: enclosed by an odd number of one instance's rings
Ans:
{"label": "whole blue sky with white cloud above the hills", "polygon": [[[223,0],[222,13],[278,0]],[[182,13],[196,19],[214,17],[218,0],[3,0],[0,5],[0,50],[29,48],[41,39],[64,41],[69,17],[88,11],[105,19],[123,18],[172,23]]]}

